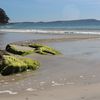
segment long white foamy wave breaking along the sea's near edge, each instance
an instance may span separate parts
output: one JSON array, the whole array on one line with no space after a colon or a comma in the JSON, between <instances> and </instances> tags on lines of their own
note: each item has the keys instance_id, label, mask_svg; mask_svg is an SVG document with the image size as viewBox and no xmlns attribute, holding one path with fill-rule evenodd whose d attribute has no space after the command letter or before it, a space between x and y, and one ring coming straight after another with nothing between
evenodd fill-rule
<instances>
[{"instance_id":1,"label":"long white foamy wave breaking along the sea's near edge","mask_svg":"<svg viewBox=\"0 0 100 100\"><path fill-rule=\"evenodd\" d=\"M44 34L100 34L100 31L42 30L42 29L0 29L0 32L44 33Z\"/></svg>"}]
</instances>

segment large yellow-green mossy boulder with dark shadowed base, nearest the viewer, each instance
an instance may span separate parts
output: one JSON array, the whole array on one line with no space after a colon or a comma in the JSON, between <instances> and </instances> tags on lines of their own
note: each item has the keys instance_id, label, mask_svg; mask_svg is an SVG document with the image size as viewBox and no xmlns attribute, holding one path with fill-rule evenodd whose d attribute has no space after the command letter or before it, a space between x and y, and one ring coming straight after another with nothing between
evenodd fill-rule
<instances>
[{"instance_id":1,"label":"large yellow-green mossy boulder with dark shadowed base, nearest the viewer","mask_svg":"<svg viewBox=\"0 0 100 100\"><path fill-rule=\"evenodd\" d=\"M20 73L27 70L36 70L40 64L29 58L16 58L11 55L3 55L0 62L0 73L4 76Z\"/></svg>"}]
</instances>

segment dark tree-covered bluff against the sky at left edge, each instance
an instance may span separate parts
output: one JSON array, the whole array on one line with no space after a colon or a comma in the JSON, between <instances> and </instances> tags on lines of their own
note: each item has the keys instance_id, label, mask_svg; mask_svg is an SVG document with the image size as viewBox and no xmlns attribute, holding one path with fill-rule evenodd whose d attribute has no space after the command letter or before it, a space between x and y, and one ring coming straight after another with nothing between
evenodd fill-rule
<instances>
[{"instance_id":1,"label":"dark tree-covered bluff against the sky at left edge","mask_svg":"<svg viewBox=\"0 0 100 100\"><path fill-rule=\"evenodd\" d=\"M6 15L5 11L0 8L0 23L8 23L9 17Z\"/></svg>"}]
</instances>

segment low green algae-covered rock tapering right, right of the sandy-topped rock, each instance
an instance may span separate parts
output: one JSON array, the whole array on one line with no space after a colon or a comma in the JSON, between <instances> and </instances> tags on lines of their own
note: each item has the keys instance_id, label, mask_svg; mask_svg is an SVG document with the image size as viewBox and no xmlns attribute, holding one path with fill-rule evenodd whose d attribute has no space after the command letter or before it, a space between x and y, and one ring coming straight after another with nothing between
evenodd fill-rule
<instances>
[{"instance_id":1,"label":"low green algae-covered rock tapering right, right of the sandy-topped rock","mask_svg":"<svg viewBox=\"0 0 100 100\"><path fill-rule=\"evenodd\" d=\"M55 50L54 48L51 48L49 46L42 45L39 43L33 43L33 44L30 44L29 46L35 48L35 52L42 54L42 55L47 55L47 54L59 55L59 54L61 54L59 51Z\"/></svg>"}]
</instances>

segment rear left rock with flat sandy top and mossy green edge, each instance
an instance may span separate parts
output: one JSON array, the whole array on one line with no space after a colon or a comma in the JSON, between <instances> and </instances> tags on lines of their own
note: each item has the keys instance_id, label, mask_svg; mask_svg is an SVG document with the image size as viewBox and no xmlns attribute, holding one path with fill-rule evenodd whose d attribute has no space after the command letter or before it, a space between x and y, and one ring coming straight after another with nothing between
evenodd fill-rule
<instances>
[{"instance_id":1,"label":"rear left rock with flat sandy top and mossy green edge","mask_svg":"<svg viewBox=\"0 0 100 100\"><path fill-rule=\"evenodd\" d=\"M21 48L21 49L20 49ZM27 47L24 47L24 46L18 46L18 45L11 45L11 44L8 44L6 46L6 50L10 53L13 53L13 54L18 54L18 55L22 55L22 56L25 56L27 54L31 54L34 52L34 49L26 49Z\"/></svg>"}]
</instances>

